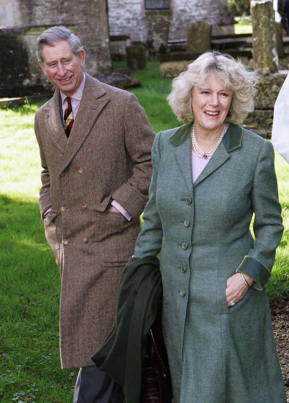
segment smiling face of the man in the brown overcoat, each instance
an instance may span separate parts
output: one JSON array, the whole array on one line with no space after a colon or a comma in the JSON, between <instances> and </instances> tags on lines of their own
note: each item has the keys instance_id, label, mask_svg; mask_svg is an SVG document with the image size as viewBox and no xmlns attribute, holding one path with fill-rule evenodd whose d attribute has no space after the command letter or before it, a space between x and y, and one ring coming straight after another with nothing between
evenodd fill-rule
<instances>
[{"instance_id":1,"label":"smiling face of the man in the brown overcoat","mask_svg":"<svg viewBox=\"0 0 289 403\"><path fill-rule=\"evenodd\" d=\"M42 57L43 64L38 63L50 83L71 97L83 81L85 51L76 56L68 41L59 41L55 46L43 46Z\"/></svg>"}]
</instances>

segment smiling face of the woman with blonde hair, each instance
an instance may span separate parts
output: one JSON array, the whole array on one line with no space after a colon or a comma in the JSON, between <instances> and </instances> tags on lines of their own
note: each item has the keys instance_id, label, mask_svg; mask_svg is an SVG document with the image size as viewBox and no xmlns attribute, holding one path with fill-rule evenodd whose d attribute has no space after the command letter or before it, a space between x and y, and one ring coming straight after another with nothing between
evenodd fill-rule
<instances>
[{"instance_id":1,"label":"smiling face of the woman with blonde hair","mask_svg":"<svg viewBox=\"0 0 289 403\"><path fill-rule=\"evenodd\" d=\"M202 87L194 87L192 109L197 130L211 133L223 129L231 101L232 93L225 91L213 75Z\"/></svg>"}]
</instances>

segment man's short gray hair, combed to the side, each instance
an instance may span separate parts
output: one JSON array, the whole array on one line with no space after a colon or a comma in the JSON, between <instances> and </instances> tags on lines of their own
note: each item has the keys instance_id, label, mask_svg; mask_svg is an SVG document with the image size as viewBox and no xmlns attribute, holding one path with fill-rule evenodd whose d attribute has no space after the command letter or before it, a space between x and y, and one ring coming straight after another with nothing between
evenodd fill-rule
<instances>
[{"instance_id":1,"label":"man's short gray hair, combed to the side","mask_svg":"<svg viewBox=\"0 0 289 403\"><path fill-rule=\"evenodd\" d=\"M78 38L78 36L74 35L74 33L72 33L67 27L64 27L64 25L55 25L54 27L46 29L37 38L37 60L43 64L43 46L55 46L59 41L68 41L72 52L76 54L76 56L78 56L83 50L81 40Z\"/></svg>"}]
</instances>

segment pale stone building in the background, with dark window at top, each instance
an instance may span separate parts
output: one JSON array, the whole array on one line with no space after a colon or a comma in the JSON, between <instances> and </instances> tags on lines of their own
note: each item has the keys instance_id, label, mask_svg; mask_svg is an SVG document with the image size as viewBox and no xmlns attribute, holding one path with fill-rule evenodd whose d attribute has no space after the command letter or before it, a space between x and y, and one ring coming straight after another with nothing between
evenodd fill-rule
<instances>
[{"instance_id":1,"label":"pale stone building in the background, with dark window at top","mask_svg":"<svg viewBox=\"0 0 289 403\"><path fill-rule=\"evenodd\" d=\"M186 40L188 25L205 21L213 35L233 33L227 0L107 0L109 34L133 42ZM157 49L158 50L158 49Z\"/></svg>"}]
</instances>

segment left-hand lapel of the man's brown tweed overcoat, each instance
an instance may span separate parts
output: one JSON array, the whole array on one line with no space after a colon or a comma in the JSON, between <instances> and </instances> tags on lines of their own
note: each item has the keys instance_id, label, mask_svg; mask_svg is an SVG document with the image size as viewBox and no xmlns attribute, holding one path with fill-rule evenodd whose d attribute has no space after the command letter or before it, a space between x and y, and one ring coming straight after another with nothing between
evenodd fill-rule
<instances>
[{"instance_id":1,"label":"left-hand lapel of the man's brown tweed overcoat","mask_svg":"<svg viewBox=\"0 0 289 403\"><path fill-rule=\"evenodd\" d=\"M61 121L59 105L59 90L54 91L50 106L45 108L45 123L49 137L52 139L58 150L65 154L67 137Z\"/></svg>"}]
</instances>

